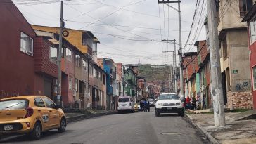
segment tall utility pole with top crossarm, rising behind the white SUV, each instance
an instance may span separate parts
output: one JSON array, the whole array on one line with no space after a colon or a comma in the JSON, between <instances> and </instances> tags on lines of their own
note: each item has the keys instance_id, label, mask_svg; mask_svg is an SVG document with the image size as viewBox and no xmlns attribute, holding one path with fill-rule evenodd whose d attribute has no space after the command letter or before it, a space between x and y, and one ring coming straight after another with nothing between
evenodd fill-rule
<instances>
[{"instance_id":1,"label":"tall utility pole with top crossarm, rising behind the white SUV","mask_svg":"<svg viewBox=\"0 0 256 144\"><path fill-rule=\"evenodd\" d=\"M180 87L181 91L179 95L181 98L184 98L184 90L183 90L183 65L182 65L182 44L181 44L181 1L171 1L171 0L158 0L159 4L166 4L167 6L173 8L179 14L179 65L180 65ZM178 9L170 6L169 3L178 3Z\"/></svg>"}]
</instances>

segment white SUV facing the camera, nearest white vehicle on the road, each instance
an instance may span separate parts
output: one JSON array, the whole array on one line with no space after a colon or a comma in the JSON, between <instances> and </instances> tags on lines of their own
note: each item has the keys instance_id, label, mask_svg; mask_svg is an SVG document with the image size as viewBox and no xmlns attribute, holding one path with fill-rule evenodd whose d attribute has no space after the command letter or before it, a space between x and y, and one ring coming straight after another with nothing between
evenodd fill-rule
<instances>
[{"instance_id":1,"label":"white SUV facing the camera, nearest white vehicle on the road","mask_svg":"<svg viewBox=\"0 0 256 144\"><path fill-rule=\"evenodd\" d=\"M176 93L160 94L158 101L155 103L155 116L159 117L161 113L177 113L184 117L184 107Z\"/></svg>"}]
</instances>

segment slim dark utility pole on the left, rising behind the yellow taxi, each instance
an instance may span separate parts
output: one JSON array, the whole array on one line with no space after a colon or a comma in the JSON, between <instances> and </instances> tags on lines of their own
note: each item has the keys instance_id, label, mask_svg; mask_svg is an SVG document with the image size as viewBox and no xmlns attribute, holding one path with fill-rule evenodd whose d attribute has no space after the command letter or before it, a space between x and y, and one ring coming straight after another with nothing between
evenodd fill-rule
<instances>
[{"instance_id":1,"label":"slim dark utility pole on the left, rising behind the yellow taxi","mask_svg":"<svg viewBox=\"0 0 256 144\"><path fill-rule=\"evenodd\" d=\"M63 1L60 5L60 34L59 34L59 44L58 44L58 55L57 55L57 65L58 65L58 89L57 89L57 106L61 106L61 49L62 49L62 33L63 33Z\"/></svg>"}]
</instances>

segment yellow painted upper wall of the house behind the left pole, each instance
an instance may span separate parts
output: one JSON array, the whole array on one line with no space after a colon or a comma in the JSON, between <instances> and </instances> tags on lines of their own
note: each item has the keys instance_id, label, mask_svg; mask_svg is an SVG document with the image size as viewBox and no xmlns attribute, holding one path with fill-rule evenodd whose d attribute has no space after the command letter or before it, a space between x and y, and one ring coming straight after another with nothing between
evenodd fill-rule
<instances>
[{"instance_id":1,"label":"yellow painted upper wall of the house behind the left pole","mask_svg":"<svg viewBox=\"0 0 256 144\"><path fill-rule=\"evenodd\" d=\"M34 30L41 30L45 32L53 32L59 34L60 28L58 27L46 27L46 26L39 26L39 25L31 25ZM66 40L70 42L73 46L76 46L79 51L82 53L88 53L88 47L82 45L82 30L70 30L65 29L69 32L68 37L64 37Z\"/></svg>"}]
</instances>

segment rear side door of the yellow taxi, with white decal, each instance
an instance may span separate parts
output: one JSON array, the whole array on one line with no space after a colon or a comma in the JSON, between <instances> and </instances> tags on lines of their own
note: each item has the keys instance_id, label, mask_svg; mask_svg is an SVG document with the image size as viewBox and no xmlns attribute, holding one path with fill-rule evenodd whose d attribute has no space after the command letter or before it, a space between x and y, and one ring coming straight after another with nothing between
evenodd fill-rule
<instances>
[{"instance_id":1,"label":"rear side door of the yellow taxi, with white decal","mask_svg":"<svg viewBox=\"0 0 256 144\"><path fill-rule=\"evenodd\" d=\"M51 122L49 121L49 110L46 108L46 105L44 104L44 101L40 98L34 98L34 110L36 110L39 114L39 117L41 118L41 121L43 122L44 129L50 129L51 128Z\"/></svg>"}]
</instances>

